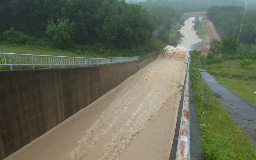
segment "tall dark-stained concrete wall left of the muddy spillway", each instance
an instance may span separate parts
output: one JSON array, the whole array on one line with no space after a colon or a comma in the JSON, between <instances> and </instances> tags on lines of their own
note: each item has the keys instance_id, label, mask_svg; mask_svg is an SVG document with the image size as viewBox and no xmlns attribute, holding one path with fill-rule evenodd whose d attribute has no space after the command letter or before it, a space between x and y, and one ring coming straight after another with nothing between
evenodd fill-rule
<instances>
[{"instance_id":1,"label":"tall dark-stained concrete wall left of the muddy spillway","mask_svg":"<svg viewBox=\"0 0 256 160\"><path fill-rule=\"evenodd\" d=\"M157 55L101 67L0 72L0 159L112 90Z\"/></svg>"}]
</instances>

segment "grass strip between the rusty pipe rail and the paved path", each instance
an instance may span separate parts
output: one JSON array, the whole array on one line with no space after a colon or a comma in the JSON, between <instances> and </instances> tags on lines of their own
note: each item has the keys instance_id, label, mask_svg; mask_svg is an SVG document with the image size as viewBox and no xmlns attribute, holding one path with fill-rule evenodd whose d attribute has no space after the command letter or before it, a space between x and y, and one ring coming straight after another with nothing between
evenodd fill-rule
<instances>
[{"instance_id":1,"label":"grass strip between the rusty pipe rail and the paved path","mask_svg":"<svg viewBox=\"0 0 256 160\"><path fill-rule=\"evenodd\" d=\"M232 120L227 111L205 85L197 69L190 69L194 102L202 131L206 160L251 160L256 157L249 136ZM239 156L239 157L238 157Z\"/></svg>"}]
</instances>

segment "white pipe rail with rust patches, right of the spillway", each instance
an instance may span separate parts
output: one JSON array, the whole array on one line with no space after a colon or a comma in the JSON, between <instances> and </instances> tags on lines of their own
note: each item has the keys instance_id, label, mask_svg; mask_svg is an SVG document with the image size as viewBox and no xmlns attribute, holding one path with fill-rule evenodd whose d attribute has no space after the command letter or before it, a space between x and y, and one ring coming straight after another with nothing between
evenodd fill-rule
<instances>
[{"instance_id":1,"label":"white pipe rail with rust patches, right of the spillway","mask_svg":"<svg viewBox=\"0 0 256 160\"><path fill-rule=\"evenodd\" d=\"M187 65L185 93L183 99L176 160L190 160L189 63Z\"/></svg>"}]
</instances>

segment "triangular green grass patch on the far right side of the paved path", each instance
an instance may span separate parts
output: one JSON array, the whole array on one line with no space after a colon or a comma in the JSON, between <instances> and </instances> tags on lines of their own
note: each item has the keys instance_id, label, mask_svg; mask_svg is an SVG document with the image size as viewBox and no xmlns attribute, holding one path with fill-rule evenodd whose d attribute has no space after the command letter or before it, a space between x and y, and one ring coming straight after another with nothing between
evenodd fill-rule
<instances>
[{"instance_id":1,"label":"triangular green grass patch on the far right side of the paved path","mask_svg":"<svg viewBox=\"0 0 256 160\"><path fill-rule=\"evenodd\" d=\"M224 86L244 97L256 106L256 82L243 81L239 79L228 79L220 76L215 78Z\"/></svg>"}]
</instances>

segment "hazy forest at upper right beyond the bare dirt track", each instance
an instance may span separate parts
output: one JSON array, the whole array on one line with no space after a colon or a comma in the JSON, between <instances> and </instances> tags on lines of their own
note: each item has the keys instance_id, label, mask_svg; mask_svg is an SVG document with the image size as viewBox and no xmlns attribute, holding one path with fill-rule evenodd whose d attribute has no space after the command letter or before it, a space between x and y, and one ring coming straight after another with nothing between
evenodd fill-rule
<instances>
[{"instance_id":1,"label":"hazy forest at upper right beyond the bare dirt track","mask_svg":"<svg viewBox=\"0 0 256 160\"><path fill-rule=\"evenodd\" d=\"M241 42L255 45L256 10L246 10L244 14L241 6L213 6L207 10L207 17L213 22L220 37L239 37Z\"/></svg>"}]
</instances>

